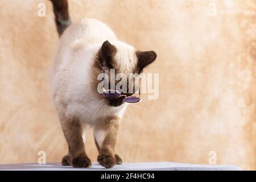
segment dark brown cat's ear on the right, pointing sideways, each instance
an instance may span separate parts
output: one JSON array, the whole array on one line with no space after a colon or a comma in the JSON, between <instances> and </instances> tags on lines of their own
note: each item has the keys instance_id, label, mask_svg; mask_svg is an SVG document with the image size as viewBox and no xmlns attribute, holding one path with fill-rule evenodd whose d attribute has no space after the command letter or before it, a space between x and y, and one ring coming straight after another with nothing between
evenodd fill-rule
<instances>
[{"instance_id":1,"label":"dark brown cat's ear on the right, pointing sideways","mask_svg":"<svg viewBox=\"0 0 256 182\"><path fill-rule=\"evenodd\" d=\"M136 55L138 57L137 67L139 72L141 72L143 68L151 64L156 59L156 53L154 51L137 51Z\"/></svg>"}]
</instances>

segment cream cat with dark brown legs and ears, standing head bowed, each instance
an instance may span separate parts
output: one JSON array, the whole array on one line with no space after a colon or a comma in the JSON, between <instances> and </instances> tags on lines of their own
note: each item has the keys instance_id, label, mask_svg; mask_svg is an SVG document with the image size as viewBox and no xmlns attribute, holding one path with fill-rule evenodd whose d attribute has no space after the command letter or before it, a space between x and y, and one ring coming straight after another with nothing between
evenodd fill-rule
<instances>
[{"instance_id":1,"label":"cream cat with dark brown legs and ears, standing head bowed","mask_svg":"<svg viewBox=\"0 0 256 182\"><path fill-rule=\"evenodd\" d=\"M123 102L123 97L110 99L99 93L101 80L97 76L102 67L106 75L110 69L115 74L123 73L125 78L129 73L141 74L155 59L154 51L137 51L120 42L105 23L96 19L84 18L64 31L50 74L53 102L68 143L63 166L92 165L85 152L86 126L93 129L98 163L105 168L122 164L115 154L115 143L119 123L129 104Z\"/></svg>"}]
</instances>

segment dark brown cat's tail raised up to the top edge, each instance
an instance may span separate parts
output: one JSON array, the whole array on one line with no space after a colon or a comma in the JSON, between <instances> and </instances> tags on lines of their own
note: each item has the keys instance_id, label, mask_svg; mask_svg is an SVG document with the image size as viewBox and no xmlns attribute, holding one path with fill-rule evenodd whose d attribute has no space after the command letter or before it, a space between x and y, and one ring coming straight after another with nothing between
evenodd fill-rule
<instances>
[{"instance_id":1,"label":"dark brown cat's tail raised up to the top edge","mask_svg":"<svg viewBox=\"0 0 256 182\"><path fill-rule=\"evenodd\" d=\"M53 5L53 12L55 14L55 23L59 36L63 34L64 30L71 24L68 12L68 0L50 0Z\"/></svg>"}]
</instances>

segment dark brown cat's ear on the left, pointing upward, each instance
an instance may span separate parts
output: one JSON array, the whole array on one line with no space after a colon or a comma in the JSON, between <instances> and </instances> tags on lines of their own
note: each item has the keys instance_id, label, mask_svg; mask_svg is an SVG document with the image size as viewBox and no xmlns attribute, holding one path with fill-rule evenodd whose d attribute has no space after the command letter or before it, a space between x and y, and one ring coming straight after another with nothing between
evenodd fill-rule
<instances>
[{"instance_id":1,"label":"dark brown cat's ear on the left, pointing upward","mask_svg":"<svg viewBox=\"0 0 256 182\"><path fill-rule=\"evenodd\" d=\"M106 65L108 65L109 68L113 68L112 62L113 57L117 52L117 48L115 48L115 46L113 46L108 42L108 40L106 40L101 46L101 52L102 56L104 57Z\"/></svg>"}]
</instances>

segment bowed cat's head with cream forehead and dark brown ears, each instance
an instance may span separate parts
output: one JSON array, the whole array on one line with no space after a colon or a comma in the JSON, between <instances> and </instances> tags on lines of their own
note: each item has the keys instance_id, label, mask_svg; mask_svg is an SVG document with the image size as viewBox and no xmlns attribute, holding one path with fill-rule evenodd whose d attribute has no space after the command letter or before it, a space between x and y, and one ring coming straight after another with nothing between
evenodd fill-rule
<instances>
[{"instance_id":1,"label":"bowed cat's head with cream forehead and dark brown ears","mask_svg":"<svg viewBox=\"0 0 256 182\"><path fill-rule=\"evenodd\" d=\"M111 44L108 41L102 44L98 55L98 62L101 65L104 65L105 73L109 75L109 78L110 69L114 69L115 76L122 75L122 84L119 83L121 85L120 88L122 89L118 91L121 95L125 95L126 97L132 96L136 91L135 88L139 88L139 82L129 82L129 77L131 76L129 73L133 73L134 78L138 77L139 74L142 73L143 69L147 65L151 64L155 59L156 53L154 51L137 51L125 43L113 42ZM120 80L114 80L114 82L115 84L118 84ZM133 93L129 92L129 89L133 90ZM125 96L105 99L108 101L108 105L117 107L124 103L123 99Z\"/></svg>"}]
</instances>

